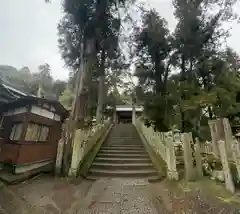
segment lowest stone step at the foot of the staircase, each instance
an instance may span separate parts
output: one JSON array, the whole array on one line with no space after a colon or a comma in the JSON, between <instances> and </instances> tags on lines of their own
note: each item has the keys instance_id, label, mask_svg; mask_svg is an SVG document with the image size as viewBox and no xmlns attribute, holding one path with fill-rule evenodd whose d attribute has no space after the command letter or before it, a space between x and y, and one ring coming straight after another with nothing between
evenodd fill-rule
<instances>
[{"instance_id":1,"label":"lowest stone step at the foot of the staircase","mask_svg":"<svg viewBox=\"0 0 240 214\"><path fill-rule=\"evenodd\" d=\"M103 176L103 177L133 177L133 178L143 178L157 176L155 169L144 169L144 170L107 170L107 169L91 169L89 170L90 176Z\"/></svg>"}]
</instances>

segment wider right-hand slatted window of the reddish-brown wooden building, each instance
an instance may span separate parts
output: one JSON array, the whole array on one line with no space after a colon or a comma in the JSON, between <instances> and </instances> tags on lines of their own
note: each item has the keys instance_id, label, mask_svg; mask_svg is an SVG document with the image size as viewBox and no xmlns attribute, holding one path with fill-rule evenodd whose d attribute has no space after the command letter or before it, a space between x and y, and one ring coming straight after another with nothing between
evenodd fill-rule
<instances>
[{"instance_id":1,"label":"wider right-hand slatted window of the reddish-brown wooden building","mask_svg":"<svg viewBox=\"0 0 240 214\"><path fill-rule=\"evenodd\" d=\"M45 142L47 141L48 133L49 133L48 126L44 126L36 123L29 123L25 140Z\"/></svg>"}]
</instances>

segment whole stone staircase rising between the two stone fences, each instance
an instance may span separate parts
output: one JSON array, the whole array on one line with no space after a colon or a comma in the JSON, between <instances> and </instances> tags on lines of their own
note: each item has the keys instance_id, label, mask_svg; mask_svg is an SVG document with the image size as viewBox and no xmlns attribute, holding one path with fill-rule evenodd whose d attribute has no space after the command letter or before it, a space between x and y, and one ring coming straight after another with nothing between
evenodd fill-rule
<instances>
[{"instance_id":1,"label":"whole stone staircase rising between the two stone fences","mask_svg":"<svg viewBox=\"0 0 240 214\"><path fill-rule=\"evenodd\" d=\"M158 174L132 124L117 124L102 145L88 179L147 178L158 180Z\"/></svg>"}]
</instances>

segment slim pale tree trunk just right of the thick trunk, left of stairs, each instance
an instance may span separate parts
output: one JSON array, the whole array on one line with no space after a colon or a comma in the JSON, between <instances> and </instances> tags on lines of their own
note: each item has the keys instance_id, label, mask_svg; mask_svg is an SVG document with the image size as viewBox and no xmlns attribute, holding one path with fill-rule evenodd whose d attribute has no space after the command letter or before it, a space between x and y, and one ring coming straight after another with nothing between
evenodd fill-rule
<instances>
[{"instance_id":1,"label":"slim pale tree trunk just right of the thick trunk, left of stairs","mask_svg":"<svg viewBox=\"0 0 240 214\"><path fill-rule=\"evenodd\" d=\"M98 106L96 112L96 122L97 124L102 123L103 120L103 107L104 107L104 94L105 94L105 51L101 54L101 65L100 65L100 77L99 77L99 87L98 87Z\"/></svg>"}]
</instances>

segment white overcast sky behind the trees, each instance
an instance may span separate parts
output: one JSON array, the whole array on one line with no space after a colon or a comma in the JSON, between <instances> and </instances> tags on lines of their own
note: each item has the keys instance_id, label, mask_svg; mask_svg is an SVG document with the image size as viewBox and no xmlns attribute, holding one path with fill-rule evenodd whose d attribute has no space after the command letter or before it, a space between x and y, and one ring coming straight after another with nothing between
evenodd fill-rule
<instances>
[{"instance_id":1,"label":"white overcast sky behind the trees","mask_svg":"<svg viewBox=\"0 0 240 214\"><path fill-rule=\"evenodd\" d=\"M147 0L174 28L171 0ZM240 7L238 8L240 9ZM61 0L0 0L0 65L28 66L32 72L48 63L55 79L66 79L57 43L57 24L62 17ZM240 25L231 24L228 45L240 54Z\"/></svg>"}]
</instances>

